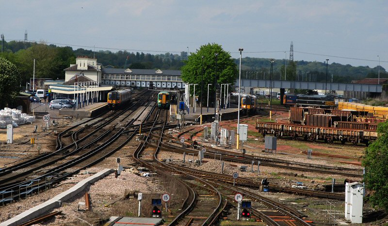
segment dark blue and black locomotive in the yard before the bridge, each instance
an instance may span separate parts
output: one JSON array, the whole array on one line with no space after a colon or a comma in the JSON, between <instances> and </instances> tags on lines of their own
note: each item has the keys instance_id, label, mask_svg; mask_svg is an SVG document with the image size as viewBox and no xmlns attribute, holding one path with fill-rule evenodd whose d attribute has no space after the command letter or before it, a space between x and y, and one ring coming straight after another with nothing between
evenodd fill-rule
<instances>
[{"instance_id":1,"label":"dark blue and black locomotive in the yard before the bridge","mask_svg":"<svg viewBox=\"0 0 388 226\"><path fill-rule=\"evenodd\" d=\"M286 94L283 98L285 107L300 106L300 107L320 107L332 108L336 104L334 97L330 95L305 95L305 94Z\"/></svg>"}]
</instances>

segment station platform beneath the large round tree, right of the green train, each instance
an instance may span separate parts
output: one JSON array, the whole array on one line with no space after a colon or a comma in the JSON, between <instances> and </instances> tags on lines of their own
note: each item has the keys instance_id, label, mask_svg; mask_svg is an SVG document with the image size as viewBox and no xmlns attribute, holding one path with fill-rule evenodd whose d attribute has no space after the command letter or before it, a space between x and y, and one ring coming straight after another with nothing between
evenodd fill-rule
<instances>
[{"instance_id":1,"label":"station platform beneath the large round tree, right of the green train","mask_svg":"<svg viewBox=\"0 0 388 226\"><path fill-rule=\"evenodd\" d=\"M171 114L178 113L178 106L177 105L171 105ZM231 118L237 118L237 108L227 108L227 109L220 109L221 114L221 120L229 120ZM196 111L194 112L194 108L190 107L189 112L186 111L185 114L185 120L186 121L197 121L199 122L199 117L201 115L201 108L196 108ZM212 122L214 121L214 108L202 108L202 122Z\"/></svg>"}]
</instances>

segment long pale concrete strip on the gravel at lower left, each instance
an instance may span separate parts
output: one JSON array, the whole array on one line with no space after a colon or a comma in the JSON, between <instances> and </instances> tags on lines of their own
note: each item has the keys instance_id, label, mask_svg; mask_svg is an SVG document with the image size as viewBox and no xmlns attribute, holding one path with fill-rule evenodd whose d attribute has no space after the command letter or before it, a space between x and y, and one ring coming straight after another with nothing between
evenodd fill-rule
<instances>
[{"instance_id":1,"label":"long pale concrete strip on the gravel at lower left","mask_svg":"<svg viewBox=\"0 0 388 226\"><path fill-rule=\"evenodd\" d=\"M32 207L31 209L26 210L26 211L16 215L15 217L0 223L0 226L17 226L17 225L23 224L27 221L30 221L30 220L38 217L41 214L44 214L45 212L47 212L51 209L58 208L61 206L62 202L66 201L67 199L80 193L89 184L94 183L97 180L104 178L105 176L107 176L113 172L114 172L113 169L103 169L100 172L98 172L97 174L81 180L72 188L68 189L67 191L65 191L61 194L56 195L55 197L49 199L48 201L46 201L38 206Z\"/></svg>"}]
</instances>

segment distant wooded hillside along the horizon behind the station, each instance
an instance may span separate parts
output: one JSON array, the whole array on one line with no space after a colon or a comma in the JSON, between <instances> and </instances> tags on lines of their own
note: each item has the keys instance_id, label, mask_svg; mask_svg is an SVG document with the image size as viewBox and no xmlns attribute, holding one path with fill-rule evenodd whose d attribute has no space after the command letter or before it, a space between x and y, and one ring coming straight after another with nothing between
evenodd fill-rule
<instances>
[{"instance_id":1,"label":"distant wooded hillside along the horizon behind the station","mask_svg":"<svg viewBox=\"0 0 388 226\"><path fill-rule=\"evenodd\" d=\"M40 59L37 62L36 76L42 78L64 78L63 69L69 64L75 64L75 57L88 56L97 58L97 62L104 66L112 65L116 68L138 68L138 69L172 69L179 70L184 64L183 60L187 60L187 52L182 51L180 54L164 53L164 54L149 54L139 52L100 50L93 52L92 50L78 48L73 50L71 47L56 47L49 45L43 48L44 44L25 43L20 41L5 42L4 53L0 53L0 57L4 57L11 62L14 62L22 73L24 80L29 81L32 71L32 60L27 58ZM40 48L37 48L40 47ZM26 48L26 49L25 49ZM49 53L49 54L48 54ZM46 65L42 65L46 62ZM235 59L236 65L239 65L240 59ZM296 74L295 80L306 81L325 81L326 79L326 64L324 62L307 62L295 61ZM26 65L27 64L27 65ZM287 73L289 73L290 62L287 61ZM39 67L41 66L41 67ZM242 58L242 78L248 77L252 79L265 76L269 79L271 63L266 58ZM335 82L351 82L362 78L377 78L378 68L370 68L368 66L352 66L332 63L328 65L328 80ZM274 62L273 79L284 79L284 60L276 60ZM238 77L238 75L236 75ZM287 77L288 79L290 77ZM380 78L388 78L385 68L380 67Z\"/></svg>"}]
</instances>

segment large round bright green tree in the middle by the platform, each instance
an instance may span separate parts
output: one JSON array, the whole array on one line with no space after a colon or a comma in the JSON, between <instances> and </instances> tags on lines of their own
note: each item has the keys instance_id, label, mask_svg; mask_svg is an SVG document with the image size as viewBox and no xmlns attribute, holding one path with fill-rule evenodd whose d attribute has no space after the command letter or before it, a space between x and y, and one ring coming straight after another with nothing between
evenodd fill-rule
<instances>
[{"instance_id":1,"label":"large round bright green tree in the middle by the platform","mask_svg":"<svg viewBox=\"0 0 388 226\"><path fill-rule=\"evenodd\" d=\"M217 70L216 57L217 56ZM203 56L203 58L202 58ZM203 91L204 97L207 96L208 84L214 84L214 77L217 76L217 84L233 83L237 75L237 65L231 58L229 52L226 52L218 44L207 44L201 46L196 52L189 55L188 60L183 60L181 67L181 78L184 82L190 84L198 84L195 88L195 95L201 95L201 76L203 68ZM214 95L214 85L210 86L211 92ZM218 88L219 89L219 88ZM191 92L194 90L190 89Z\"/></svg>"}]
</instances>

